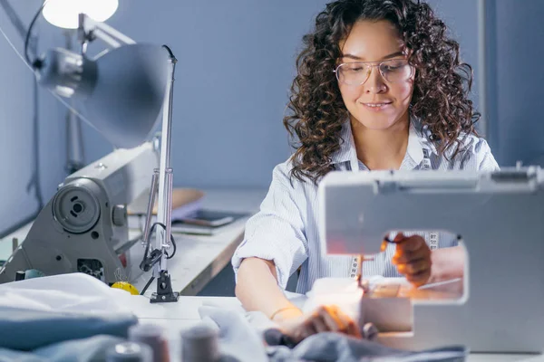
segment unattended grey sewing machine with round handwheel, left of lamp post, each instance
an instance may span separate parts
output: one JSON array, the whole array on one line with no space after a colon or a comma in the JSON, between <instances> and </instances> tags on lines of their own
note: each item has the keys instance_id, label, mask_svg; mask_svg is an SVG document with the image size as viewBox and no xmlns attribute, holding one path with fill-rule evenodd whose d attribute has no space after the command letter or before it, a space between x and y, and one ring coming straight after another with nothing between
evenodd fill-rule
<instances>
[{"instance_id":1,"label":"unattended grey sewing machine with round handwheel, left of lamp post","mask_svg":"<svg viewBox=\"0 0 544 362\"><path fill-rule=\"evenodd\" d=\"M152 142L118 148L66 177L0 270L0 283L17 271L45 275L84 272L112 284L141 274L144 248L129 240L127 205L149 192L159 162Z\"/></svg>"}]
</instances>

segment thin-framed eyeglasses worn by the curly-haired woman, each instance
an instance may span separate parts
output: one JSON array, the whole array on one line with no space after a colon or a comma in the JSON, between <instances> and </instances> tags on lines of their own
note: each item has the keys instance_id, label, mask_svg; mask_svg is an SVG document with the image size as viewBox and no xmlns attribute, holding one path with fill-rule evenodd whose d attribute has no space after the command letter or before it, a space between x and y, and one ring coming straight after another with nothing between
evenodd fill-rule
<instances>
[{"instance_id":1,"label":"thin-framed eyeglasses worn by the curly-haired woman","mask_svg":"<svg viewBox=\"0 0 544 362\"><path fill-rule=\"evenodd\" d=\"M413 66L406 59L391 59L384 62L343 62L334 72L336 79L341 83L362 85L368 81L374 67L377 67L384 80L390 83L407 81L413 75Z\"/></svg>"}]
</instances>

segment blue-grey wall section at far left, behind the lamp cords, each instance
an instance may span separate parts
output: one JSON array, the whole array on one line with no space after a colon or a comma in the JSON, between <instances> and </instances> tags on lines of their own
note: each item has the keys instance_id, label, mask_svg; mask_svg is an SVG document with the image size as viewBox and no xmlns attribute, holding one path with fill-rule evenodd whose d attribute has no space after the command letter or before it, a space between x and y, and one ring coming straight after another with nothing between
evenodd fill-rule
<instances>
[{"instance_id":1,"label":"blue-grey wall section at far left, behind the lamp cords","mask_svg":"<svg viewBox=\"0 0 544 362\"><path fill-rule=\"evenodd\" d=\"M40 0L11 0L10 4L29 24ZM23 40L0 8L0 25L15 44L23 51ZM56 29L42 22L39 49L58 45ZM34 163L34 75L24 65L0 34L0 235L19 224L38 210L35 189L27 185L39 171L40 191L44 203L53 195L56 186L63 180L64 124L60 104L45 90L39 90L39 146L38 167Z\"/></svg>"}]
</instances>

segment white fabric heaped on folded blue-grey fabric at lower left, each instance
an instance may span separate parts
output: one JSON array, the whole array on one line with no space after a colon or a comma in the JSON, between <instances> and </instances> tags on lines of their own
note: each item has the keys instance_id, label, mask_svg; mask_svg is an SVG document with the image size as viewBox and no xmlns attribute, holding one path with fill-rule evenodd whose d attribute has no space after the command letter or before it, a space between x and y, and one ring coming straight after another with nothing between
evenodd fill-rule
<instances>
[{"instance_id":1,"label":"white fabric heaped on folded blue-grey fabric at lower left","mask_svg":"<svg viewBox=\"0 0 544 362\"><path fill-rule=\"evenodd\" d=\"M81 273L0 285L0 348L30 351L102 334L126 338L138 322L124 307L130 297Z\"/></svg>"}]
</instances>

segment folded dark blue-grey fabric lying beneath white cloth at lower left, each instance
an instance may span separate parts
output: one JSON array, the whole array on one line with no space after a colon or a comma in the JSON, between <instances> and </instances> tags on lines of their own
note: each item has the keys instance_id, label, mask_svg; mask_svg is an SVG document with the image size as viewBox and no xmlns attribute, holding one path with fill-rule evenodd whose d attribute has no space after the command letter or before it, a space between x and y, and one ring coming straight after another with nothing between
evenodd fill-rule
<instances>
[{"instance_id":1,"label":"folded dark blue-grey fabric lying beneath white cloth at lower left","mask_svg":"<svg viewBox=\"0 0 544 362\"><path fill-rule=\"evenodd\" d=\"M0 308L0 348L34 350L104 334L126 338L138 319L129 313L83 314Z\"/></svg>"}]
</instances>

